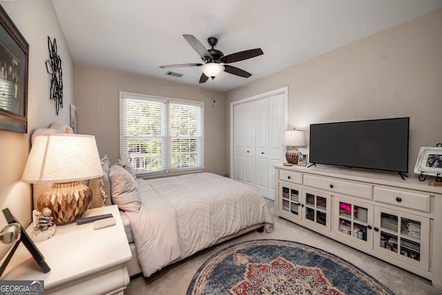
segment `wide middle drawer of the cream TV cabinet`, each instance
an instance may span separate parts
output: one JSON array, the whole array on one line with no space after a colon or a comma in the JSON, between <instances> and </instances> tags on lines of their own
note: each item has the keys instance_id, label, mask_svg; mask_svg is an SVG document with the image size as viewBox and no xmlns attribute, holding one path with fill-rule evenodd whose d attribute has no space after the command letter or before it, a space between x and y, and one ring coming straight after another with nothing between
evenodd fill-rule
<instances>
[{"instance_id":1,"label":"wide middle drawer of the cream TV cabinet","mask_svg":"<svg viewBox=\"0 0 442 295\"><path fill-rule=\"evenodd\" d=\"M372 185L339 181L337 179L311 175L304 175L304 185L320 188L321 190L338 192L340 194L348 194L349 196L358 196L363 199L372 199Z\"/></svg>"}]
</instances>

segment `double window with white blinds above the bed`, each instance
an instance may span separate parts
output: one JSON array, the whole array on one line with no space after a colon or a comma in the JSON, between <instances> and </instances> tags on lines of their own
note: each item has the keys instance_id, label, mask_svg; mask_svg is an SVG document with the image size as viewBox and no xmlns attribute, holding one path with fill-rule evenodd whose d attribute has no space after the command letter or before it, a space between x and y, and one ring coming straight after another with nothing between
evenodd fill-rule
<instances>
[{"instance_id":1,"label":"double window with white blinds above the bed","mask_svg":"<svg viewBox=\"0 0 442 295\"><path fill-rule=\"evenodd\" d=\"M137 173L203 168L204 104L120 94L120 146Z\"/></svg>"}]
</instances>

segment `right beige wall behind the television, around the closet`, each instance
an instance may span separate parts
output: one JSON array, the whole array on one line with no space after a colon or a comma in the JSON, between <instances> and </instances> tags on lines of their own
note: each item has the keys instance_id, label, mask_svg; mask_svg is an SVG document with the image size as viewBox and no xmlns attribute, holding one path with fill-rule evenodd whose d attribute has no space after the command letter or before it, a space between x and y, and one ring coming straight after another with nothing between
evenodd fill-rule
<instances>
[{"instance_id":1,"label":"right beige wall behind the television, around the closet","mask_svg":"<svg viewBox=\"0 0 442 295\"><path fill-rule=\"evenodd\" d=\"M288 86L288 128L302 130L311 123L410 116L412 175L419 148L442 141L441 52L439 9L227 92L226 103Z\"/></svg>"}]
</instances>

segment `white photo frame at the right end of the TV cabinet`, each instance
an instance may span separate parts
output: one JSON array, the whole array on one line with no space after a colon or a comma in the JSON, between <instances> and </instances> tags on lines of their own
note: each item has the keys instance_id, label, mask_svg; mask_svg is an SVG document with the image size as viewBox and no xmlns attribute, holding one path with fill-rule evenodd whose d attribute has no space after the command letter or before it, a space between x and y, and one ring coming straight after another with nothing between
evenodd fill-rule
<instances>
[{"instance_id":1,"label":"white photo frame at the right end of the TV cabinet","mask_svg":"<svg viewBox=\"0 0 442 295\"><path fill-rule=\"evenodd\" d=\"M414 173L442 176L442 148L441 147L421 147L417 157Z\"/></svg>"}]
</instances>

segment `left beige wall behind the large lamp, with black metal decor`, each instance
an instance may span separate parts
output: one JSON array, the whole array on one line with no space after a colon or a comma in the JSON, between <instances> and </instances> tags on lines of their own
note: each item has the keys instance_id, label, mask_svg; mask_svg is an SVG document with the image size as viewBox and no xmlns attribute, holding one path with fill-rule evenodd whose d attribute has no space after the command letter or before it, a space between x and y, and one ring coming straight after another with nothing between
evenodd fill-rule
<instances>
[{"instance_id":1,"label":"left beige wall behind the large lamp, with black metal decor","mask_svg":"<svg viewBox=\"0 0 442 295\"><path fill-rule=\"evenodd\" d=\"M28 134L0 130L0 208L9 207L23 225L31 219L30 185L20 181L30 148L30 134L51 123L69 123L69 105L73 103L73 60L50 0L1 1L21 34L29 43ZM49 57L48 36L57 39L62 60L64 108L55 114L49 99L50 76L45 61ZM0 213L0 229L6 224ZM6 246L0 243L0 257Z\"/></svg>"}]
</instances>

